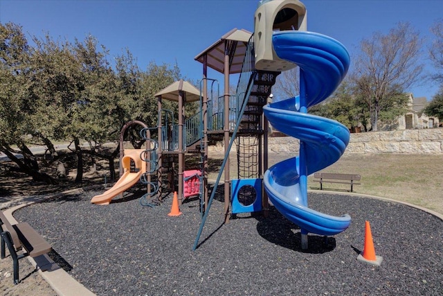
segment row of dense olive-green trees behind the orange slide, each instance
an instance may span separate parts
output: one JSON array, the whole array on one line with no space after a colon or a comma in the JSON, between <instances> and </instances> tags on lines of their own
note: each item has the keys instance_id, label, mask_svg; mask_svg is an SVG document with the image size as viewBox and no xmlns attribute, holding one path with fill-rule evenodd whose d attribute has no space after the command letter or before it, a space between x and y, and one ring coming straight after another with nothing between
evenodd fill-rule
<instances>
[{"instance_id":1,"label":"row of dense olive-green trees behind the orange slide","mask_svg":"<svg viewBox=\"0 0 443 296\"><path fill-rule=\"evenodd\" d=\"M109 153L101 149L102 144L118 141L127 121L156 126L154 94L180 78L179 68L152 62L147 71L140 71L127 51L116 58L113 69L107 49L91 35L71 43L47 34L42 39L33 37L33 42L35 46L28 45L20 26L0 24L0 151L34 180L54 182L39 173L30 143L47 146L53 156L49 164L56 164L57 169L64 157L74 155L76 182L82 181L84 167L94 169L96 157L109 161L114 179L118 148ZM177 104L164 101L163 107L177 114ZM134 130L128 129L128 134L139 138ZM69 145L71 153L57 153L55 140L73 144ZM89 149L80 145L84 141ZM137 147L141 144L136 143Z\"/></svg>"}]
</instances>

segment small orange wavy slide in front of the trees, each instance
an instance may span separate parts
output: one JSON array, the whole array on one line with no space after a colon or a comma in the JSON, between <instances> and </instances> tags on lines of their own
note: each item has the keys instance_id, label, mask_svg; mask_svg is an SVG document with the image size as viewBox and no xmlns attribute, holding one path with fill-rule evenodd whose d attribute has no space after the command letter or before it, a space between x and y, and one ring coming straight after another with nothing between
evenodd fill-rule
<instances>
[{"instance_id":1,"label":"small orange wavy slide in front of the trees","mask_svg":"<svg viewBox=\"0 0 443 296\"><path fill-rule=\"evenodd\" d=\"M144 149L125 149L125 156L122 158L123 175L111 187L100 195L96 195L91 199L93 204L109 204L113 198L120 193L125 192L140 180L140 176L146 171L146 162L143 162L140 155ZM136 172L131 172L131 160L134 162Z\"/></svg>"}]
</instances>

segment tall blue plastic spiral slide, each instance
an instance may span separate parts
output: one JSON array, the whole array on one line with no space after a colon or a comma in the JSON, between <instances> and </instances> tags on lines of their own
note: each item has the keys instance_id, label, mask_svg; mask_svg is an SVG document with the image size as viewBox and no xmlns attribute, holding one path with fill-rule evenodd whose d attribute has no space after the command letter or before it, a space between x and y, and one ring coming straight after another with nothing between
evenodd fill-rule
<instances>
[{"instance_id":1,"label":"tall blue plastic spiral slide","mask_svg":"<svg viewBox=\"0 0 443 296\"><path fill-rule=\"evenodd\" d=\"M301 234L331 236L351 223L308 207L307 176L336 162L345 152L349 130L331 119L307 114L307 107L324 101L340 85L350 64L343 44L331 37L302 31L273 33L279 58L300 67L300 96L264 107L273 128L300 139L298 157L271 166L264 173L264 188L280 213L298 225Z\"/></svg>"}]
</instances>

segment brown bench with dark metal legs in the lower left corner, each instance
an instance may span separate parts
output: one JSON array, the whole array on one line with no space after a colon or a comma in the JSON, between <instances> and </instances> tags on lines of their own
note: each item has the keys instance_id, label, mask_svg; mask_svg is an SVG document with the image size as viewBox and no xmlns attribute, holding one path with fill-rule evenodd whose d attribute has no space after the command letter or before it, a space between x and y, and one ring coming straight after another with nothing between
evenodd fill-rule
<instances>
[{"instance_id":1,"label":"brown bench with dark metal legs in the lower left corner","mask_svg":"<svg viewBox=\"0 0 443 296\"><path fill-rule=\"evenodd\" d=\"M36 257L52 250L51 245L28 223L11 225L5 214L0 211L1 259L6 257L5 244L8 246L14 264L14 284L19 284L19 259L26 256ZM19 254L17 254L19 252Z\"/></svg>"}]
</instances>

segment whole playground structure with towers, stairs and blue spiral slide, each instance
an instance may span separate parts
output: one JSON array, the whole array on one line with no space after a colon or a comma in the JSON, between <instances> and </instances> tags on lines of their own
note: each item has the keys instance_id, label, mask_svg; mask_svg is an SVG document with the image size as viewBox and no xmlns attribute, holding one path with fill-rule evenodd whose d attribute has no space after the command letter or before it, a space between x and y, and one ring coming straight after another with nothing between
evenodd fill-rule
<instances>
[{"instance_id":1,"label":"whole playground structure with towers, stairs and blue spiral slide","mask_svg":"<svg viewBox=\"0 0 443 296\"><path fill-rule=\"evenodd\" d=\"M324 101L338 87L347 73L349 55L336 40L307 32L307 11L300 1L260 1L254 20L254 34L235 28L195 57L203 64L200 89L180 80L157 93L158 125L142 132L147 148L139 158L146 165L138 166L145 171L138 173L147 184L147 195L161 200L164 173L168 172L173 186L171 168L178 164L180 204L191 195L199 197L203 218L194 250L215 197L215 190L208 196L208 145L213 141L224 142L225 157L215 186L224 171L225 222L230 214L263 211L266 215L271 200L278 211L300 226L302 248L307 248L309 232L329 236L350 225L350 216L323 214L310 209L307 202L307 175L336 162L350 138L344 125L309 115L307 108ZM297 66L300 95L266 105L277 76ZM208 68L224 75L221 96L219 82L208 78ZM239 75L235 94L229 90L231 74ZM164 99L179 104L177 123L162 110ZM195 101L200 103L199 112L185 119L186 103ZM276 130L300 139L299 155L271 168L268 121ZM151 135L154 130L156 138ZM238 178L230 180L229 155L234 143ZM189 154L199 155L200 168L185 170Z\"/></svg>"}]
</instances>

